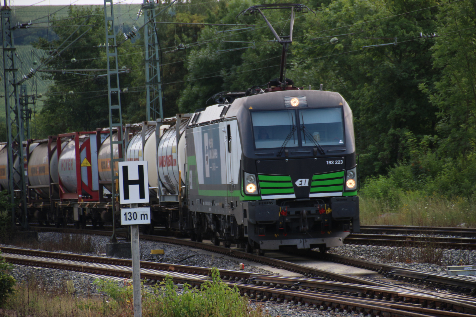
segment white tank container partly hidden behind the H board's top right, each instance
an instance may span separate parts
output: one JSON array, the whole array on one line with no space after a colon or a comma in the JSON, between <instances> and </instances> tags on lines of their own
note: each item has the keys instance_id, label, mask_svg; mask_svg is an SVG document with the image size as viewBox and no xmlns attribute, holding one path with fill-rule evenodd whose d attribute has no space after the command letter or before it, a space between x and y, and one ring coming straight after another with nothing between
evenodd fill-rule
<instances>
[{"instance_id":1,"label":"white tank container partly hidden behind the H board's top right","mask_svg":"<svg viewBox=\"0 0 476 317\"><path fill-rule=\"evenodd\" d=\"M157 165L155 152L155 125L149 125L145 132L145 145L142 150L142 131L130 139L126 149L126 161L147 161L149 187L157 187ZM156 192L154 193L156 194Z\"/></svg>"}]
</instances>

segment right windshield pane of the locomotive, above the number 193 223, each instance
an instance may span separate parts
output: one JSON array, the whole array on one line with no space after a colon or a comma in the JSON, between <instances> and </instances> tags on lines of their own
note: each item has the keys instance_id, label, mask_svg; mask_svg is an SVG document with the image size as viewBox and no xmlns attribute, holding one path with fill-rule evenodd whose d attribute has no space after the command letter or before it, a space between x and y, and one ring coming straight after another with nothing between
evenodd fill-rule
<instances>
[{"instance_id":1,"label":"right windshield pane of the locomotive, above the number 193 223","mask_svg":"<svg viewBox=\"0 0 476 317\"><path fill-rule=\"evenodd\" d=\"M319 108L299 110L303 146L314 145L310 136L320 145L344 144L342 108ZM304 126L304 130L302 127Z\"/></svg>"}]
</instances>

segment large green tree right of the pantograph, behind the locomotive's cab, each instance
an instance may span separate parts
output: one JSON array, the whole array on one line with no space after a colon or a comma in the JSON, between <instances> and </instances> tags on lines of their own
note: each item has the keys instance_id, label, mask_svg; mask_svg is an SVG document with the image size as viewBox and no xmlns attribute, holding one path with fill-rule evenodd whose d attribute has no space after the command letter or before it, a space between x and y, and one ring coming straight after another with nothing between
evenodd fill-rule
<instances>
[{"instance_id":1,"label":"large green tree right of the pantograph, behind the locomotive's cab","mask_svg":"<svg viewBox=\"0 0 476 317\"><path fill-rule=\"evenodd\" d=\"M386 173L408 158L406 135L434 134L436 107L418 85L438 76L433 68L433 40L420 32L436 31L435 5L418 1L334 1L307 19L307 36L293 45L290 72L301 85L343 95L354 114L357 151L364 176ZM394 16L392 18L387 18ZM374 21L375 20L375 21ZM340 35L343 34L343 35ZM337 36L338 44L329 39ZM362 49L363 46L392 43Z\"/></svg>"}]
</instances>

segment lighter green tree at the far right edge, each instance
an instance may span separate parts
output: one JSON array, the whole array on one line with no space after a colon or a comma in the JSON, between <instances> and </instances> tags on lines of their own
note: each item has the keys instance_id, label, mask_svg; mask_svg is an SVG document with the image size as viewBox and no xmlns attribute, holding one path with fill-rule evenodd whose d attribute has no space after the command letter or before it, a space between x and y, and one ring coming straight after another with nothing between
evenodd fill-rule
<instances>
[{"instance_id":1,"label":"lighter green tree at the far right edge","mask_svg":"<svg viewBox=\"0 0 476 317\"><path fill-rule=\"evenodd\" d=\"M438 109L440 154L446 157L466 157L476 149L475 10L471 1L441 7L433 61L442 76L421 85Z\"/></svg>"}]
</instances>

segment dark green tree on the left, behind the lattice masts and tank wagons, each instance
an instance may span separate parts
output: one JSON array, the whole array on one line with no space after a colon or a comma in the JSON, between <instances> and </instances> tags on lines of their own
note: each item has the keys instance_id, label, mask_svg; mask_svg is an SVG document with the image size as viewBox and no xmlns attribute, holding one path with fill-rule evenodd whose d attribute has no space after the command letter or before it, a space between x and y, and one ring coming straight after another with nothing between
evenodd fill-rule
<instances>
[{"instance_id":1,"label":"dark green tree on the left, behind the lattice masts and tank wagons","mask_svg":"<svg viewBox=\"0 0 476 317\"><path fill-rule=\"evenodd\" d=\"M70 48L53 59L49 69L104 69L106 68L104 16L102 10L93 7L70 6L68 17L52 21L53 26L60 27L57 31L58 39L47 41L40 38L35 46L42 48L46 53L55 50L63 41L69 44L87 29L88 33L79 38ZM81 25L76 30L76 26ZM74 33L73 33L74 32ZM72 36L67 39L70 35ZM119 33L120 34L120 33ZM121 38L118 36L118 41ZM128 93L121 93L123 120L138 122L145 119L145 99L143 78L144 66L143 50L139 41L137 44L126 42L118 49L119 68L130 69L119 75L121 88L128 88ZM46 54L48 55L48 54ZM111 62L112 58L111 58ZM45 96L45 106L37 117L37 124L43 136L66 133L71 131L91 131L96 128L109 126L108 90L105 71L87 72L52 72L43 75L54 81ZM111 82L115 78L111 77ZM117 103L117 99L113 103Z\"/></svg>"}]
</instances>

